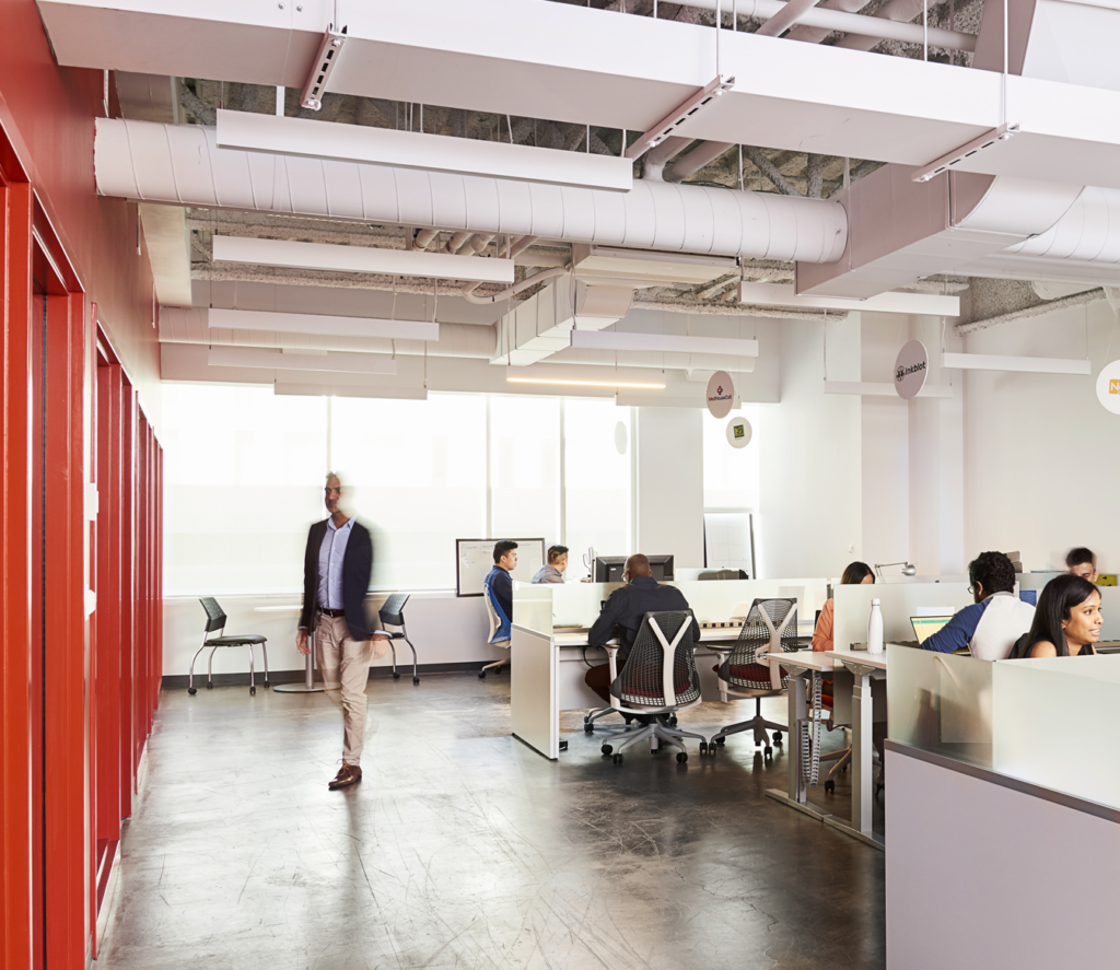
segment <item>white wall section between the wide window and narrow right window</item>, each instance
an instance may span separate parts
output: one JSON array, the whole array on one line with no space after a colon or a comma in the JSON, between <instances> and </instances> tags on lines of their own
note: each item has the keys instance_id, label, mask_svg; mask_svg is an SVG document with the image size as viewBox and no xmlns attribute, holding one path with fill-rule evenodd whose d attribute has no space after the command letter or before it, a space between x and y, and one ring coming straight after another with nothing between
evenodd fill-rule
<instances>
[{"instance_id":1,"label":"white wall section between the wide window and narrow right window","mask_svg":"<svg viewBox=\"0 0 1120 970\"><path fill-rule=\"evenodd\" d=\"M703 566L703 412L637 408L635 550L672 553L674 565Z\"/></svg>"}]
</instances>

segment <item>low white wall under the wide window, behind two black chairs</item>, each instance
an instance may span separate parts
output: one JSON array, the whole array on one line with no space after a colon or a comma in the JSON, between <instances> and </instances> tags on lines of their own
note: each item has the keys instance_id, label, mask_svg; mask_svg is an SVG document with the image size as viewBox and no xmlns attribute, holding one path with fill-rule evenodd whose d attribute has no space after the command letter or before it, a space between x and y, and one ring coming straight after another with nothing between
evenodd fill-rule
<instances>
[{"instance_id":1,"label":"low white wall under the wide window, behind two black chairs","mask_svg":"<svg viewBox=\"0 0 1120 970\"><path fill-rule=\"evenodd\" d=\"M384 603L384 596L367 600L371 615ZM218 603L226 612L225 632L260 633L268 637L269 670L302 670L304 657L296 650L296 628L299 624L298 595L288 596L222 596ZM278 610L276 607L289 606ZM268 609L262 610L262 607ZM479 663L508 656L486 643L489 627L486 623L482 597L454 594L414 593L404 607L409 640L417 649L417 657L424 663ZM195 597L171 596L164 599L164 673L186 674L190 657L198 650L203 637L206 614ZM205 683L206 657L203 651L195 664L195 677ZM256 654L256 674L263 665ZM391 656L375 661L374 666L389 666ZM412 663L412 653L403 641L396 643L398 670ZM246 647L222 647L214 654L214 673L244 673L249 670ZM196 685L198 682L196 681Z\"/></svg>"}]
</instances>

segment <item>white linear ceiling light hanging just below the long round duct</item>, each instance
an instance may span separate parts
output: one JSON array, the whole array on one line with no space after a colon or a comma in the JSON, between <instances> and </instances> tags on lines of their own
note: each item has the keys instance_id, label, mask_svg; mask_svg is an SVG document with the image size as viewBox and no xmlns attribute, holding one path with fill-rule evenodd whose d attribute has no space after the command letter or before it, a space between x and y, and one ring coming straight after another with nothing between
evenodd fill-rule
<instances>
[{"instance_id":1,"label":"white linear ceiling light hanging just below the long round duct","mask_svg":"<svg viewBox=\"0 0 1120 970\"><path fill-rule=\"evenodd\" d=\"M513 282L513 260L250 236L214 236L214 260L328 272L477 280L484 283Z\"/></svg>"}]
</instances>

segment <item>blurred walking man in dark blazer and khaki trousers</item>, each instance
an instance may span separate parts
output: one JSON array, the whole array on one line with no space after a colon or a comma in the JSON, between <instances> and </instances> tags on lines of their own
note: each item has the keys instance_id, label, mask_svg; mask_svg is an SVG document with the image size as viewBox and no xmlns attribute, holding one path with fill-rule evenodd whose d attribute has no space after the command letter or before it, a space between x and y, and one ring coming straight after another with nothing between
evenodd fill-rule
<instances>
[{"instance_id":1,"label":"blurred walking man in dark blazer and khaki trousers","mask_svg":"<svg viewBox=\"0 0 1120 970\"><path fill-rule=\"evenodd\" d=\"M308 632L315 631L316 660L326 690L342 691L343 766L328 787L345 789L362 781L365 744L365 688L370 679L373 643L365 595L373 572L370 530L340 507L343 486L327 475L324 498L329 516L316 522L307 535L304 556L304 610L296 646L302 654ZM385 641L385 636L374 640Z\"/></svg>"}]
</instances>

